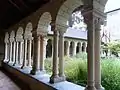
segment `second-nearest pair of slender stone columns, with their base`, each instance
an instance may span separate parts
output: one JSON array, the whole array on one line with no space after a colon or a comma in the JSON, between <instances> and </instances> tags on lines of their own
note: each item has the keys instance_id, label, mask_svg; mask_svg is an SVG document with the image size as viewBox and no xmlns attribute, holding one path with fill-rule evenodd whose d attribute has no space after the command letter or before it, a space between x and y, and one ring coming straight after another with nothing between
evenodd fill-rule
<instances>
[{"instance_id":1,"label":"second-nearest pair of slender stone columns, with their base","mask_svg":"<svg viewBox=\"0 0 120 90\"><path fill-rule=\"evenodd\" d=\"M64 32L54 30L53 35L53 67L52 76L50 77L50 83L60 82L65 80L64 75ZM58 42L59 41L59 42ZM59 43L59 72L58 72L58 43Z\"/></svg>"}]
</instances>

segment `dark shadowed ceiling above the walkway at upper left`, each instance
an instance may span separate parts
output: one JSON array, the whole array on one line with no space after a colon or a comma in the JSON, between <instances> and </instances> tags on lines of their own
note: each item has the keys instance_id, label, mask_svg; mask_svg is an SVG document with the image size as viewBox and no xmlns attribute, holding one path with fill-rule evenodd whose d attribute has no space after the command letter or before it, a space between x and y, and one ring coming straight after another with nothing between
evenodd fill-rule
<instances>
[{"instance_id":1,"label":"dark shadowed ceiling above the walkway at upper left","mask_svg":"<svg viewBox=\"0 0 120 90\"><path fill-rule=\"evenodd\" d=\"M1 0L0 29L7 29L50 0Z\"/></svg>"}]
</instances>

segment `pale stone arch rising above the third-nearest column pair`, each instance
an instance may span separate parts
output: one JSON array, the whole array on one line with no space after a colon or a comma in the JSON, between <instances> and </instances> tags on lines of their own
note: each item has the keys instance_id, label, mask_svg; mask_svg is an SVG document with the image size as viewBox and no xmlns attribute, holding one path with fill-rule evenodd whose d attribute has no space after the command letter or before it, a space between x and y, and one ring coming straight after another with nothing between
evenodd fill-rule
<instances>
[{"instance_id":1,"label":"pale stone arch rising above the third-nearest column pair","mask_svg":"<svg viewBox=\"0 0 120 90\"><path fill-rule=\"evenodd\" d=\"M42 31L42 32L48 32L48 27L51 23L52 17L49 12L45 12L42 14L40 17L40 20L38 21L38 28L37 31Z\"/></svg>"}]
</instances>

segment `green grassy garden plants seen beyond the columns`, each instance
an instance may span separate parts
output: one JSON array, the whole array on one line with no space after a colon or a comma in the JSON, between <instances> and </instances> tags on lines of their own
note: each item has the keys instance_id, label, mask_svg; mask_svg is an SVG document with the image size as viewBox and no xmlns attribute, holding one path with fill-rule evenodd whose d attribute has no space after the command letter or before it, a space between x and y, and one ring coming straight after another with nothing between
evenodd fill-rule
<instances>
[{"instance_id":1,"label":"green grassy garden plants seen beyond the columns","mask_svg":"<svg viewBox=\"0 0 120 90\"><path fill-rule=\"evenodd\" d=\"M74 57L65 57L65 74L67 80L82 86L87 84L87 56L85 53ZM45 68L51 74L52 59L45 60ZM118 58L101 60L102 86L106 90L120 90L120 61Z\"/></svg>"}]
</instances>

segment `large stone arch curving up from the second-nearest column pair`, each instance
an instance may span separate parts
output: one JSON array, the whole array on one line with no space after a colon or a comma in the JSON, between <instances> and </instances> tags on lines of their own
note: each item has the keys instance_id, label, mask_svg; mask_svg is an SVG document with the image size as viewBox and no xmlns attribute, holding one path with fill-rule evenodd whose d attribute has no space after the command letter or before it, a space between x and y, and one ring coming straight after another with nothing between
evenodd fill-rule
<instances>
[{"instance_id":1,"label":"large stone arch curving up from the second-nearest column pair","mask_svg":"<svg viewBox=\"0 0 120 90\"><path fill-rule=\"evenodd\" d=\"M83 5L82 0L66 0L60 7L57 17L56 25L57 27L67 28L67 21L72 14L72 12L79 6Z\"/></svg>"}]
</instances>

